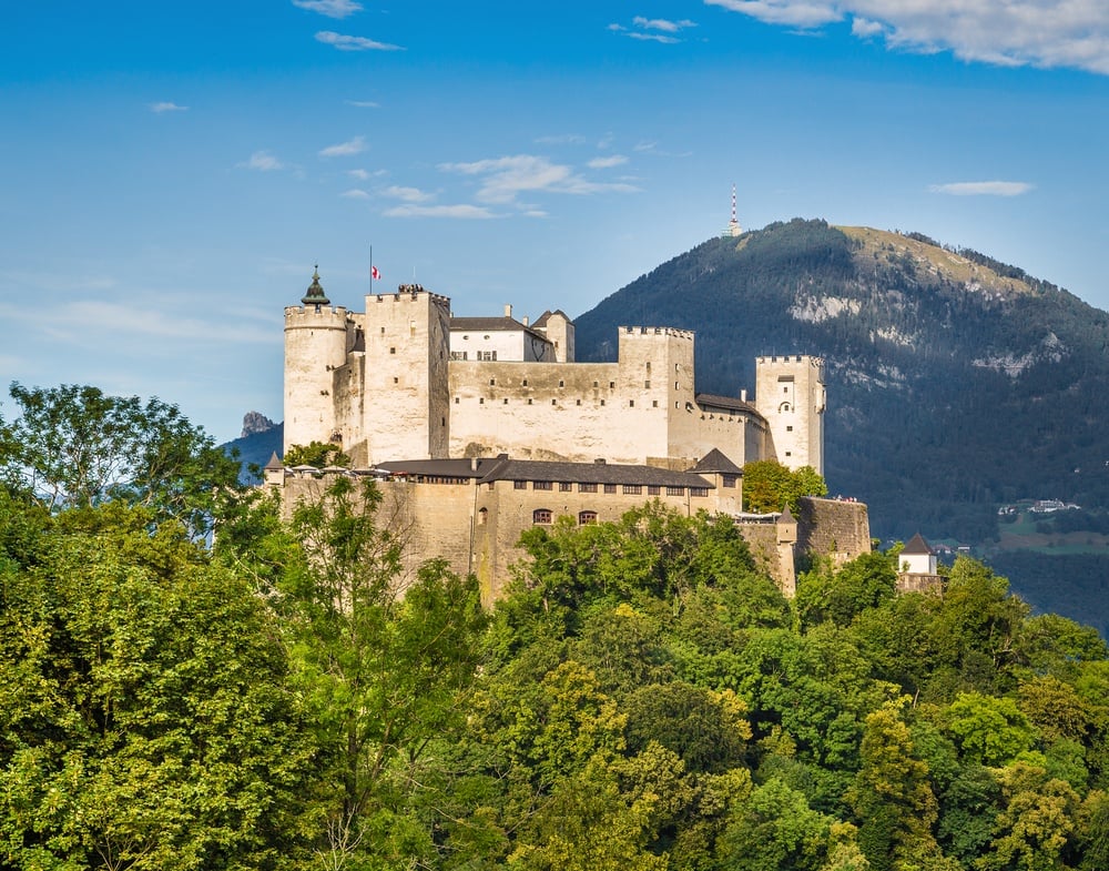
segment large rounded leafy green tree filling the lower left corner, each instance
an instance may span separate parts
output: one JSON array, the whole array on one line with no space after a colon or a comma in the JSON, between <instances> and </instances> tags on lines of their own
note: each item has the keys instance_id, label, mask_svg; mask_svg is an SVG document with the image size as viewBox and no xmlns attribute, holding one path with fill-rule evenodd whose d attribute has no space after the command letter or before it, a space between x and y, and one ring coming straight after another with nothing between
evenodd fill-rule
<instances>
[{"instance_id":1,"label":"large rounded leafy green tree filling the lower left corner","mask_svg":"<svg viewBox=\"0 0 1109 871\"><path fill-rule=\"evenodd\" d=\"M273 868L311 745L262 604L146 509L40 539L0 559L0 864Z\"/></svg>"}]
</instances>

